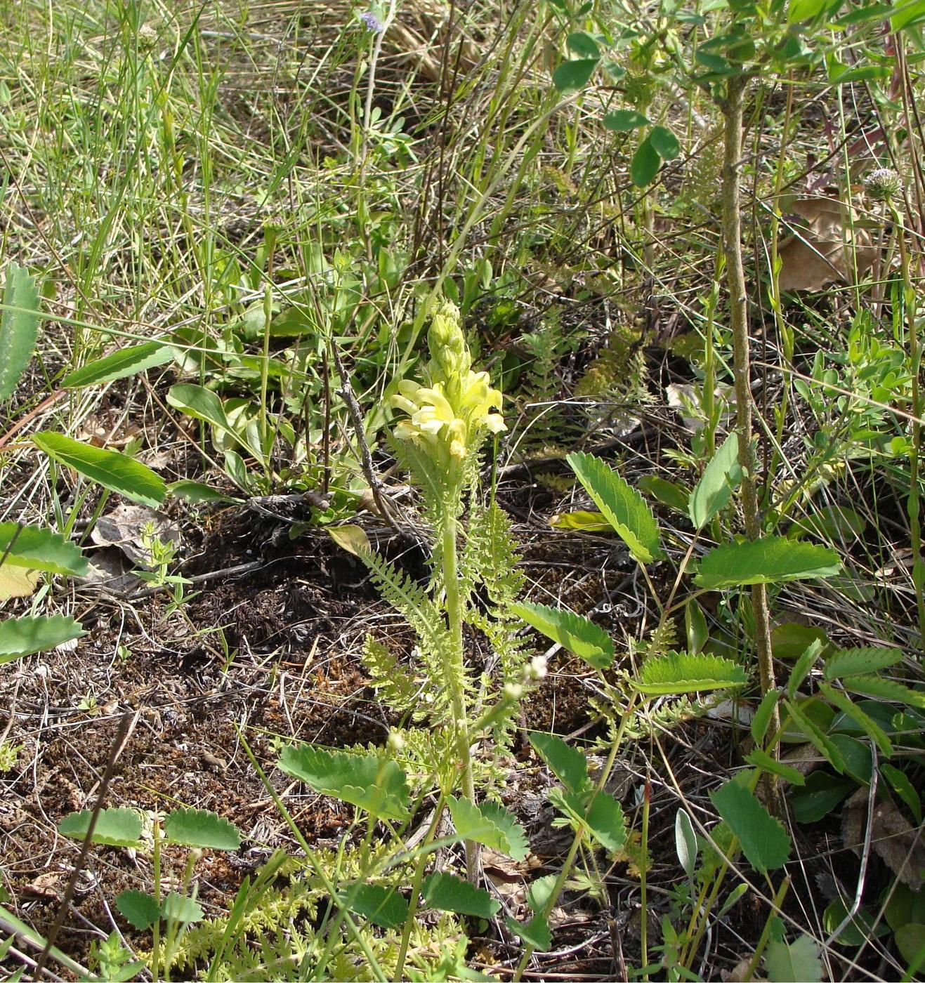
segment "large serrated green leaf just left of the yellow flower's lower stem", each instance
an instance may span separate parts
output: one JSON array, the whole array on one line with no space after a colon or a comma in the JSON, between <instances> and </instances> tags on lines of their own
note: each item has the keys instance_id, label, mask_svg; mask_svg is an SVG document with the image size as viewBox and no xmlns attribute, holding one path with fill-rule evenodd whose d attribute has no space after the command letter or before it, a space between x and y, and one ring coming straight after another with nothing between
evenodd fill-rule
<instances>
[{"instance_id":1,"label":"large serrated green leaf just left of the yellow flower's lower stem","mask_svg":"<svg viewBox=\"0 0 925 983\"><path fill-rule=\"evenodd\" d=\"M396 762L376 754L346 754L297 744L283 749L279 768L319 794L349 802L372 816L408 818L410 792L405 773Z\"/></svg>"}]
</instances>

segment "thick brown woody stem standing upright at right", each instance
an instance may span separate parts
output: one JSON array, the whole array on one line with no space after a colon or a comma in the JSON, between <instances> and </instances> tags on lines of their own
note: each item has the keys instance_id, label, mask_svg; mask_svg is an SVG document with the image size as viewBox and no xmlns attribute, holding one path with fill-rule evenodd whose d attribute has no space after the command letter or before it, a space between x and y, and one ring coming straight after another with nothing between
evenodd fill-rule
<instances>
[{"instance_id":1,"label":"thick brown woody stem standing upright at right","mask_svg":"<svg viewBox=\"0 0 925 983\"><path fill-rule=\"evenodd\" d=\"M752 394L749 385L751 358L748 338L748 300L745 269L742 264L742 218L739 208L739 178L742 154L742 96L745 76L735 76L726 85L723 112L723 253L726 285L729 291L729 321L732 328L732 364L735 377L735 429L738 432L739 466L742 469L742 512L745 533L750 540L761 538L758 497L755 492L755 449L752 445ZM777 683L771 653L771 615L764 584L752 587L752 611L755 621L755 649L762 695ZM777 709L772 726L779 722Z\"/></svg>"}]
</instances>

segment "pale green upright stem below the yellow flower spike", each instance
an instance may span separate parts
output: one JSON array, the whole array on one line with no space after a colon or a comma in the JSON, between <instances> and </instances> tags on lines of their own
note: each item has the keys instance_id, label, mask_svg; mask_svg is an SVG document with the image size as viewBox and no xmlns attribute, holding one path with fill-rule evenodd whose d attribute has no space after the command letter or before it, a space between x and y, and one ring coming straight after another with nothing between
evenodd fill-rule
<instances>
[{"instance_id":1,"label":"pale green upright stem below the yellow flower spike","mask_svg":"<svg viewBox=\"0 0 925 983\"><path fill-rule=\"evenodd\" d=\"M466 665L463 658L462 598L459 592L459 570L456 561L456 515L450 505L446 509L442 529L443 590L446 593L446 619L453 648L453 661L446 666L446 683L450 692L453 732L462 767L462 791L470 802L476 800L472 777L472 747L469 739L469 719L466 715ZM466 876L475 884L479 876L478 844L466 840Z\"/></svg>"}]
</instances>

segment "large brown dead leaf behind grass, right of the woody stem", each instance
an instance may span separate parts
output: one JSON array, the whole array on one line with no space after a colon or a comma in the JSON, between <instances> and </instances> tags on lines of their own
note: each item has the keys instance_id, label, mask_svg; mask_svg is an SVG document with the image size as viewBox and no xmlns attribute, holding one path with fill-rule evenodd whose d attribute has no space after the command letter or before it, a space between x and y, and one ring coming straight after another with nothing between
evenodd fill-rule
<instances>
[{"instance_id":1,"label":"large brown dead leaf behind grass, right of the woody stem","mask_svg":"<svg viewBox=\"0 0 925 983\"><path fill-rule=\"evenodd\" d=\"M852 264L865 272L877 255L870 233L854 225L854 254L851 259L848 211L833 198L800 198L789 205L798 218L790 222L793 235L780 244L780 289L822 290L827 283L853 279ZM852 275L849 276L849 270Z\"/></svg>"}]
</instances>

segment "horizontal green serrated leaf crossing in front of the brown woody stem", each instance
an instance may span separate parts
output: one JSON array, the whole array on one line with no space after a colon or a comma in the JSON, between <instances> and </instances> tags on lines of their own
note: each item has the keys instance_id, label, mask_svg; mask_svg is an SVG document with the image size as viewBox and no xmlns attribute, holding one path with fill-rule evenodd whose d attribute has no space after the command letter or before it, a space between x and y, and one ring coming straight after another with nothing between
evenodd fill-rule
<instances>
[{"instance_id":1,"label":"horizontal green serrated leaf crossing in front of the brown woody stem","mask_svg":"<svg viewBox=\"0 0 925 983\"><path fill-rule=\"evenodd\" d=\"M711 549L700 561L694 581L707 590L719 591L748 584L834 577L840 569L838 555L832 549L768 536Z\"/></svg>"}]
</instances>

